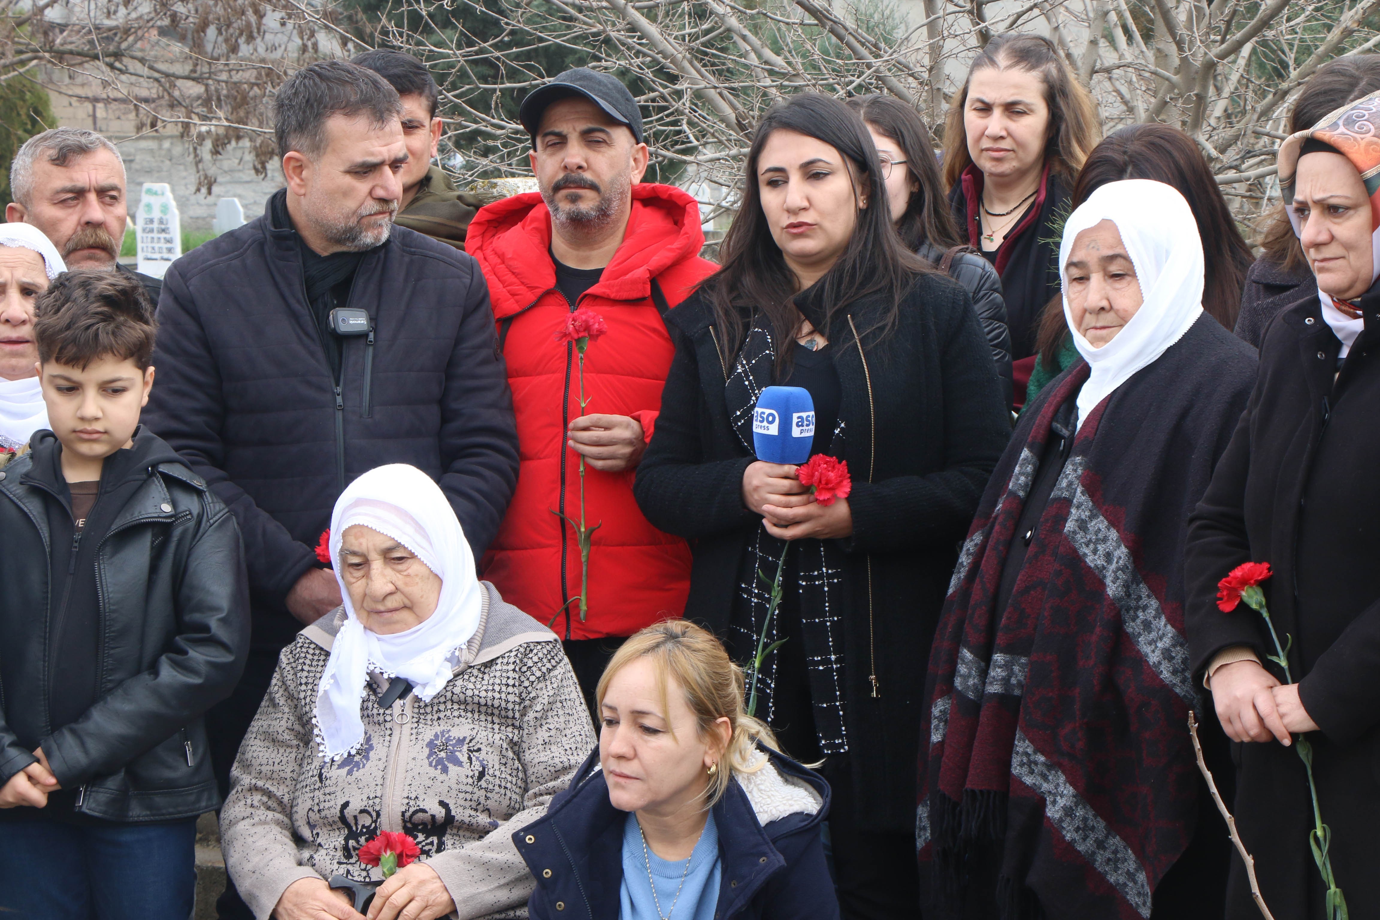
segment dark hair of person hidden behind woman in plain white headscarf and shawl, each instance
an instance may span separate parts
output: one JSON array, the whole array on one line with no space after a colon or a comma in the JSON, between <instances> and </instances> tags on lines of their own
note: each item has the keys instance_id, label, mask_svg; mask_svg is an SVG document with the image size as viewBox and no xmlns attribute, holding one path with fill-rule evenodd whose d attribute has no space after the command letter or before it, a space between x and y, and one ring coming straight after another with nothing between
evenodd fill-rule
<instances>
[{"instance_id":1,"label":"dark hair of person hidden behind woman in plain white headscarf and shawl","mask_svg":"<svg viewBox=\"0 0 1380 920\"><path fill-rule=\"evenodd\" d=\"M1174 186L1184 196L1203 243L1203 310L1223 328L1235 328L1236 314L1241 313L1241 288L1256 259L1236 229L1227 199L1213 181L1212 168L1198 145L1167 124L1126 126L1107 135L1087 156L1074 183L1074 207L1098 188L1121 179L1154 179ZM1046 368L1056 367L1067 334L1064 305L1056 298L1045 306L1035 341L1035 350Z\"/></svg>"}]
</instances>

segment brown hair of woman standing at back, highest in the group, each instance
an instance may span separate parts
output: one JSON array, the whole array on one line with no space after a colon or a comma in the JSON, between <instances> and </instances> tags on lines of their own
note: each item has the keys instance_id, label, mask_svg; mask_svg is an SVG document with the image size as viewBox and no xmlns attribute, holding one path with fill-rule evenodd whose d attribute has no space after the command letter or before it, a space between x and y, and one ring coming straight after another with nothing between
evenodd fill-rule
<instances>
[{"instance_id":1,"label":"brown hair of woman standing at back, highest in the group","mask_svg":"<svg viewBox=\"0 0 1380 920\"><path fill-rule=\"evenodd\" d=\"M1053 172L1072 178L1101 137L1097 103L1078 81L1053 41L1042 34L1005 32L992 36L987 47L977 52L967 68L963 86L949 103L944 120L944 185L952 189L963 175L963 170L973 166L973 157L967 152L967 131L963 128L963 109L967 106L967 87L973 81L973 74L989 68L1039 74L1045 84L1045 105L1049 106L1045 163Z\"/></svg>"}]
</instances>

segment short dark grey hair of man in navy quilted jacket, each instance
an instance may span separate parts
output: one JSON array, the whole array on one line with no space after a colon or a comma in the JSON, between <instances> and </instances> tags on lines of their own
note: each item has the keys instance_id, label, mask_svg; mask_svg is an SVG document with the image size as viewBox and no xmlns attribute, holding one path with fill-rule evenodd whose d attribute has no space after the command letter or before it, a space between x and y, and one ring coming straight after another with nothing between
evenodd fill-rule
<instances>
[{"instance_id":1,"label":"short dark grey hair of man in navy quilted jacket","mask_svg":"<svg viewBox=\"0 0 1380 920\"><path fill-rule=\"evenodd\" d=\"M349 61L317 61L279 87L273 99L277 156L297 150L310 159L326 149L326 121L333 114L363 114L375 126L403 114L397 90L367 68Z\"/></svg>"}]
</instances>

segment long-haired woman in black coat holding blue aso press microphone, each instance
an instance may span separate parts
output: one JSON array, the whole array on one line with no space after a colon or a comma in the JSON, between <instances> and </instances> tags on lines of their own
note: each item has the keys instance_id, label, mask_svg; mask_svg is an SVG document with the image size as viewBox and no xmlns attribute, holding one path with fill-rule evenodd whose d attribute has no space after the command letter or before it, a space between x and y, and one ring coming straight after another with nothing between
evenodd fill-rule
<instances>
[{"instance_id":1,"label":"long-haired woman in black coat holding blue aso press microphone","mask_svg":"<svg viewBox=\"0 0 1380 920\"><path fill-rule=\"evenodd\" d=\"M774 105L745 178L722 268L667 314L676 357L635 494L691 541L684 615L749 684L770 650L755 714L824 761L843 916L911 916L925 662L1006 446L1002 390L969 295L896 234L856 113L816 94ZM769 386L806 390L813 419ZM767 459L806 430L795 462ZM821 454L847 465L836 497L800 481Z\"/></svg>"}]
</instances>

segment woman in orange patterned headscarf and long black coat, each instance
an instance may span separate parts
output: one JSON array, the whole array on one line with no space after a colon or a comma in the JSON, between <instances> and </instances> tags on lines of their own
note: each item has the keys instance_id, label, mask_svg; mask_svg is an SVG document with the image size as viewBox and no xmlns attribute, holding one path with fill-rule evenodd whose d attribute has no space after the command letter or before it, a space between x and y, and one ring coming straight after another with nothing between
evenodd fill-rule
<instances>
[{"instance_id":1,"label":"woman in orange patterned headscarf and long black coat","mask_svg":"<svg viewBox=\"0 0 1380 920\"><path fill-rule=\"evenodd\" d=\"M1194 673L1239 742L1236 826L1276 917L1329 916L1305 770L1290 750L1304 734L1350 914L1380 912L1380 266L1376 196L1361 178L1380 166L1377 113L1380 92L1281 146L1281 189L1317 284L1270 326L1256 389L1190 530ZM1214 603L1219 579L1245 561L1274 567L1263 588L1297 683L1268 662L1259 614ZM1227 916L1259 916L1239 861Z\"/></svg>"}]
</instances>

